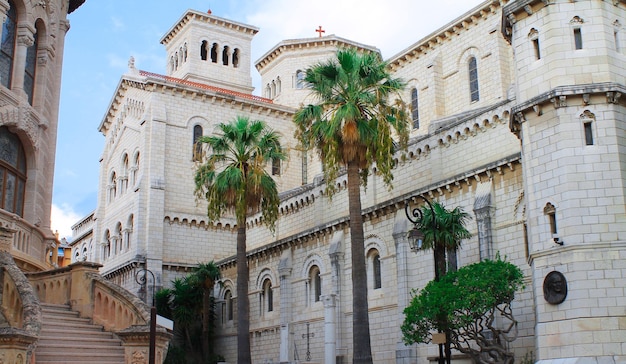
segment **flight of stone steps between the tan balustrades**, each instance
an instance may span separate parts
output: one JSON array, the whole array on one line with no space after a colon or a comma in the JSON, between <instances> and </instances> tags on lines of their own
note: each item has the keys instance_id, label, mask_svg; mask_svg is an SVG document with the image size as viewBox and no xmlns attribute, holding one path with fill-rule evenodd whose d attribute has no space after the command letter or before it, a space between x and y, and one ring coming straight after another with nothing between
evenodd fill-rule
<instances>
[{"instance_id":1,"label":"flight of stone steps between the tan balustrades","mask_svg":"<svg viewBox=\"0 0 626 364\"><path fill-rule=\"evenodd\" d=\"M123 364L122 341L102 326L78 317L67 305L41 304L43 325L37 364Z\"/></svg>"}]
</instances>

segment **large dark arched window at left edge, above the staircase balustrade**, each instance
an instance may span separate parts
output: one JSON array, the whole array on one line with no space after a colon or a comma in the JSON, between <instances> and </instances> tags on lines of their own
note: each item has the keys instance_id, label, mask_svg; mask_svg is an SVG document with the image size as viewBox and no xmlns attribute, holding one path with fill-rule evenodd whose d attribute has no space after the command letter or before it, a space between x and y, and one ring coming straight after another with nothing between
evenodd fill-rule
<instances>
[{"instance_id":1,"label":"large dark arched window at left edge, above the staircase balustrade","mask_svg":"<svg viewBox=\"0 0 626 364\"><path fill-rule=\"evenodd\" d=\"M6 126L0 127L0 188L0 207L23 216L26 154L18 136L11 133Z\"/></svg>"}]
</instances>

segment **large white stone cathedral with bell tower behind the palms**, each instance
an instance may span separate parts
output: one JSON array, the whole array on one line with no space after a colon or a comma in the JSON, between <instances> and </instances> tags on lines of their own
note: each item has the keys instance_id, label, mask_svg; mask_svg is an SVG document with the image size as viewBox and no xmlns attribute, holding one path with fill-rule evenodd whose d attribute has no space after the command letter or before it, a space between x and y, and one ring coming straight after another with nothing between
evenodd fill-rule
<instances>
[{"instance_id":1,"label":"large white stone cathedral with bell tower behind the palms","mask_svg":"<svg viewBox=\"0 0 626 364\"><path fill-rule=\"evenodd\" d=\"M412 128L393 189L374 174L361 191L375 363L437 357L436 345L407 345L399 329L414 290L433 279L432 252L407 239L405 207L423 198L471 214L459 266L500 255L523 271L509 344L516 362L626 360L622 23L624 0L487 0L385 60L406 82ZM130 59L99 126L98 204L75 225L73 259L102 264L104 277L135 293L138 270L168 287L215 261L223 276L214 292L217 351L235 363L236 224L228 216L208 222L206 202L195 199L195 142L237 116L263 120L289 158L268 165L281 197L275 231L260 216L246 224L253 361L348 363L347 181L323 179L315 152L297 144L292 118L313 102L308 67L338 49L379 51L320 32L253 60L258 31L189 10L161 38L166 74ZM339 191L332 200L328 183ZM546 284L550 277L559 289Z\"/></svg>"}]
</instances>

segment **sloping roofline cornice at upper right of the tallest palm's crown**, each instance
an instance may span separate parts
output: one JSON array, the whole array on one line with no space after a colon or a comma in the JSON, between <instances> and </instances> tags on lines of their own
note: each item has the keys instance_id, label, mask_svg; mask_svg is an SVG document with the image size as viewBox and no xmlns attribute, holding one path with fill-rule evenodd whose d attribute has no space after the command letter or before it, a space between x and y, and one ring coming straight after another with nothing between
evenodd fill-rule
<instances>
[{"instance_id":1,"label":"sloping roofline cornice at upper right of the tallest palm's crown","mask_svg":"<svg viewBox=\"0 0 626 364\"><path fill-rule=\"evenodd\" d=\"M389 67L393 70L401 68L405 63L434 51L444 42L451 41L455 36L461 34L461 32L467 31L470 27L481 22L481 20L486 20L491 14L495 14L502 5L508 2L508 0L489 0L483 2L391 57L388 61Z\"/></svg>"}]
</instances>

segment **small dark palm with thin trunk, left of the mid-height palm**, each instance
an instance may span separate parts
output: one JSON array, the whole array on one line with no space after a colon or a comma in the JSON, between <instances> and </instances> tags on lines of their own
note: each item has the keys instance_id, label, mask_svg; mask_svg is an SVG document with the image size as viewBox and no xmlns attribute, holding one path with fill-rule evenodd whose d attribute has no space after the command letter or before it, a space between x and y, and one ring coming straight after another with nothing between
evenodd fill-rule
<instances>
[{"instance_id":1,"label":"small dark palm with thin trunk, left of the mid-height palm","mask_svg":"<svg viewBox=\"0 0 626 364\"><path fill-rule=\"evenodd\" d=\"M209 360L209 331L211 322L211 290L222 273L215 262L198 264L193 270L193 277L202 287L202 355L205 362Z\"/></svg>"}]
</instances>

